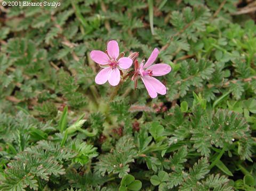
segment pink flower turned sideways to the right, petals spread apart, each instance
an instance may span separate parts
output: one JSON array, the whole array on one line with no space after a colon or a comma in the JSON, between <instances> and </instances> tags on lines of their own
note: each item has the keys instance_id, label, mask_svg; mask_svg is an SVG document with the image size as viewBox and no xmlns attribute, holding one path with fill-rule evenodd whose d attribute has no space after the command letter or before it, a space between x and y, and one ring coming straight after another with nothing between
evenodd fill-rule
<instances>
[{"instance_id":1,"label":"pink flower turned sideways to the right, petals spread apart","mask_svg":"<svg viewBox=\"0 0 256 191\"><path fill-rule=\"evenodd\" d=\"M161 95L166 94L166 87L153 76L163 76L171 71L171 67L168 64L152 65L158 54L159 51L155 48L145 65L143 63L144 60L140 63L140 67L138 61L134 63L135 73L132 80L135 80L135 87L137 86L137 77L140 76L151 98L157 97L157 93Z\"/></svg>"}]
</instances>

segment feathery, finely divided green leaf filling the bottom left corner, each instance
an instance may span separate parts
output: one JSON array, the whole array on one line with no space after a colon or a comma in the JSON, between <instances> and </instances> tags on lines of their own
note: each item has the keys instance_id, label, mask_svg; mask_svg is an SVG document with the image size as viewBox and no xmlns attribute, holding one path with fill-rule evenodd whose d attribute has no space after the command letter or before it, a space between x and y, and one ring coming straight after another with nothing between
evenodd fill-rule
<instances>
[{"instance_id":1,"label":"feathery, finely divided green leaf filling the bottom left corner","mask_svg":"<svg viewBox=\"0 0 256 191\"><path fill-rule=\"evenodd\" d=\"M74 154L67 148L60 148L51 142L38 142L19 153L5 170L2 190L26 190L26 187L37 190L50 177L58 178L65 174L62 162L69 160Z\"/></svg>"}]
</instances>

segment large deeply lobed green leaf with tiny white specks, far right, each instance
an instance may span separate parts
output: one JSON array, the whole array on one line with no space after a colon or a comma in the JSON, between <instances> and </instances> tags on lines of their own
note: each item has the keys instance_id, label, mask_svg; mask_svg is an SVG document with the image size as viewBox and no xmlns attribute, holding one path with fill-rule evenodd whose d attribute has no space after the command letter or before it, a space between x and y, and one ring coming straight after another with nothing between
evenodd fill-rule
<instances>
[{"instance_id":1,"label":"large deeply lobed green leaf with tiny white specks, far right","mask_svg":"<svg viewBox=\"0 0 256 191\"><path fill-rule=\"evenodd\" d=\"M219 110L215 114L208 114L200 119L196 117L197 113L199 114L198 110L194 112L195 117L192 118L194 126L191 130L191 140L202 155L209 156L211 145L227 147L233 144L235 138L243 140L250 135L249 126L239 114Z\"/></svg>"}]
</instances>

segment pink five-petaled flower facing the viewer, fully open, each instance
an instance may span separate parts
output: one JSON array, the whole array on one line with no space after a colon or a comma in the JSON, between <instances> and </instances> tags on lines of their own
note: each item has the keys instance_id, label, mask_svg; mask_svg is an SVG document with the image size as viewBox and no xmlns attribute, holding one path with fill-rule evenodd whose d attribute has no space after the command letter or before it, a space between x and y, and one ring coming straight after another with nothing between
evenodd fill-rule
<instances>
[{"instance_id":1,"label":"pink five-petaled flower facing the viewer, fully open","mask_svg":"<svg viewBox=\"0 0 256 191\"><path fill-rule=\"evenodd\" d=\"M107 54L102 51L92 51L90 56L94 62L105 66L95 77L96 84L100 85L105 84L107 81L111 86L118 85L120 81L119 70L130 68L133 62L130 57L121 57L118 59L119 46L115 40L109 41Z\"/></svg>"}]
</instances>

